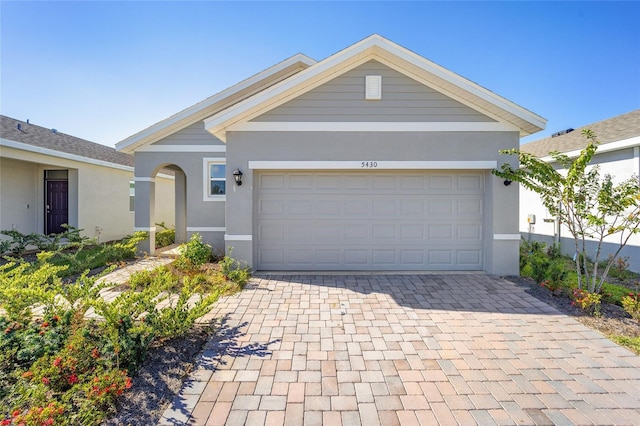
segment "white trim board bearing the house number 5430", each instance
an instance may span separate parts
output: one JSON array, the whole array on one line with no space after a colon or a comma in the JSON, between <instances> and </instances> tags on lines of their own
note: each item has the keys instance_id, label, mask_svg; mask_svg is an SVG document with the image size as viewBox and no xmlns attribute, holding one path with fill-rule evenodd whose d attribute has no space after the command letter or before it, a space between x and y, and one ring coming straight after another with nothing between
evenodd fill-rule
<instances>
[{"instance_id":1,"label":"white trim board bearing the house number 5430","mask_svg":"<svg viewBox=\"0 0 640 426\"><path fill-rule=\"evenodd\" d=\"M249 161L254 170L491 170L497 161Z\"/></svg>"}]
</instances>

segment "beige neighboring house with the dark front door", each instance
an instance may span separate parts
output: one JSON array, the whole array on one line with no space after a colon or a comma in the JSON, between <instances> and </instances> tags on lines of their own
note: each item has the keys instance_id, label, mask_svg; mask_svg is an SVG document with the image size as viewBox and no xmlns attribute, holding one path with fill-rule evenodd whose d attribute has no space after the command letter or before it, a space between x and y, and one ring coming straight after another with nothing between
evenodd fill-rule
<instances>
[{"instance_id":1,"label":"beige neighboring house with the dark front door","mask_svg":"<svg viewBox=\"0 0 640 426\"><path fill-rule=\"evenodd\" d=\"M100 242L133 232L133 156L6 116L0 124L0 230L51 234L68 224ZM171 225L173 176L158 181L156 217Z\"/></svg>"}]
</instances>

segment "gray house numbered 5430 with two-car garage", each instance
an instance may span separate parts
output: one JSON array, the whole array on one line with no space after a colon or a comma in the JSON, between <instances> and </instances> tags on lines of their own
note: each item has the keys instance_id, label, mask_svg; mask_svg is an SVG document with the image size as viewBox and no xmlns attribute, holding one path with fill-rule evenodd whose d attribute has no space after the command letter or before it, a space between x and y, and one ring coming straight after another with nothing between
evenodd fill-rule
<instances>
[{"instance_id":1,"label":"gray house numbered 5430 with two-car garage","mask_svg":"<svg viewBox=\"0 0 640 426\"><path fill-rule=\"evenodd\" d=\"M142 203L173 165L180 238L254 270L518 274L518 187L491 170L545 123L373 35L320 62L295 55L116 147L135 155L147 249Z\"/></svg>"}]
</instances>

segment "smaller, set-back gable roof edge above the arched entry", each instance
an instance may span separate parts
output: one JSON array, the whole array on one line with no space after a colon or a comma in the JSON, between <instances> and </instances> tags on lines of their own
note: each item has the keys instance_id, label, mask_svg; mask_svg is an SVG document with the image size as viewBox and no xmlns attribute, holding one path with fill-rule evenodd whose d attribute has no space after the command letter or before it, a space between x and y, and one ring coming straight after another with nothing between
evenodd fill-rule
<instances>
[{"instance_id":1,"label":"smaller, set-back gable roof edge above the arched entry","mask_svg":"<svg viewBox=\"0 0 640 426\"><path fill-rule=\"evenodd\" d=\"M298 53L118 142L116 149L133 153L139 146L152 144L198 121L211 117L217 112L259 91L265 90L315 63L315 60Z\"/></svg>"}]
</instances>

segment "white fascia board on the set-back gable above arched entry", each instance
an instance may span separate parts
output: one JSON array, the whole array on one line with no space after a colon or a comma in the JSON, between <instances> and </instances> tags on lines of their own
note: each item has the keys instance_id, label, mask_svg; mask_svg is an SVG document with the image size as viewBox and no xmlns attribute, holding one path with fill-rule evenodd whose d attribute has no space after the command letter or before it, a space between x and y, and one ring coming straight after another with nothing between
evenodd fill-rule
<instances>
[{"instance_id":1,"label":"white fascia board on the set-back gable above arched entry","mask_svg":"<svg viewBox=\"0 0 640 426\"><path fill-rule=\"evenodd\" d=\"M277 74L280 71L285 70L286 68L294 65L297 62L301 62L307 66L312 66L316 63L314 59L311 59L308 56L303 55L302 53L298 53L288 59L285 59L282 62L277 63L276 65L270 68L267 68L264 71L259 72L258 74L255 74L223 90L222 92L219 92L213 96L210 96L207 99L201 102L198 102L197 104L190 106L189 108L186 108L178 112L177 114L170 116L169 118L166 118L132 136L129 136L128 138L118 142L116 144L116 149L118 151L124 151L124 152L130 153L134 150L136 144L138 144L139 142L147 138L151 138L156 133L163 133L163 134L171 133L170 130L173 130L173 127L175 126L180 126L180 123L183 120L188 120L189 117L191 117L192 115L197 114L198 112L206 108L212 107L217 103L221 103L227 100L228 98L232 97L234 94L237 94L238 92L241 92L247 87L253 84L256 84L261 80L264 80L274 74Z\"/></svg>"}]
</instances>

